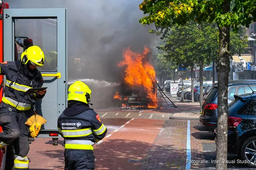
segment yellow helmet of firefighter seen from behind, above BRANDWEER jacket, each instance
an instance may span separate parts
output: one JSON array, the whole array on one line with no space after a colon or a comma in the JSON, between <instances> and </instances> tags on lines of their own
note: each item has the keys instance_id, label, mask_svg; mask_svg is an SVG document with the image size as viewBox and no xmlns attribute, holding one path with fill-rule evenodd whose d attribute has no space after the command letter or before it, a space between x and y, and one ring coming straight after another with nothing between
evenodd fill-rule
<instances>
[{"instance_id":1,"label":"yellow helmet of firefighter seen from behind, above BRANDWEER jacket","mask_svg":"<svg viewBox=\"0 0 256 170\"><path fill-rule=\"evenodd\" d=\"M68 89L68 101L70 100L88 104L91 101L91 89L81 81L74 82Z\"/></svg>"}]
</instances>

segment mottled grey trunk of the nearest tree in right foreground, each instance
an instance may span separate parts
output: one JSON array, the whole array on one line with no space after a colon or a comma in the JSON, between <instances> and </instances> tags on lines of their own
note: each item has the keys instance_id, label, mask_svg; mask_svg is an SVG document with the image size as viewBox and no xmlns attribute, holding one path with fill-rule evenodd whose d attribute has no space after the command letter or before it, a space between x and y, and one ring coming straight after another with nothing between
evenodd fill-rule
<instances>
[{"instance_id":1,"label":"mottled grey trunk of the nearest tree in right foreground","mask_svg":"<svg viewBox=\"0 0 256 170\"><path fill-rule=\"evenodd\" d=\"M230 3L227 0L223 2L224 12L230 9ZM230 27L219 28L219 58L217 63L218 75L218 119L217 119L217 146L216 159L227 160L227 113L228 113L228 76L230 71L229 45L230 45ZM220 162L216 164L216 170L226 170L227 164Z\"/></svg>"}]
</instances>

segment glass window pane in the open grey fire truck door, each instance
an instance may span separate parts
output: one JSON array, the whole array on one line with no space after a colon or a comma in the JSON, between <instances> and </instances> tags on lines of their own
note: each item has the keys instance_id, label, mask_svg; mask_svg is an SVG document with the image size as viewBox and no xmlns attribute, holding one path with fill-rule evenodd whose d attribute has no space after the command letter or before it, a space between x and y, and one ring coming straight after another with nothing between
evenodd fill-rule
<instances>
[{"instance_id":1,"label":"glass window pane in the open grey fire truck door","mask_svg":"<svg viewBox=\"0 0 256 170\"><path fill-rule=\"evenodd\" d=\"M15 19L15 36L31 38L33 45L39 46L45 56L44 67L40 71L57 71L57 19ZM20 38L24 42L24 38ZM23 52L17 46L17 55Z\"/></svg>"}]
</instances>

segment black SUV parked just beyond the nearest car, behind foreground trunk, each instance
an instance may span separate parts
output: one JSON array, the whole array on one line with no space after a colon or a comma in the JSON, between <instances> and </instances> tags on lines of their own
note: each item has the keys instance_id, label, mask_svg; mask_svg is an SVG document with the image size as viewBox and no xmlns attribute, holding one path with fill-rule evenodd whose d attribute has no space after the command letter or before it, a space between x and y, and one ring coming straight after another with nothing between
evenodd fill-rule
<instances>
[{"instance_id":1,"label":"black SUV parked just beyond the nearest car, behind foreground trunk","mask_svg":"<svg viewBox=\"0 0 256 170\"><path fill-rule=\"evenodd\" d=\"M242 95L252 92L247 84L250 85L253 91L256 91L256 80L234 80L228 82L228 104L234 100L234 95ZM200 124L210 131L214 131L217 127L217 92L218 87L217 85L214 85L203 100L203 111L202 115L199 117Z\"/></svg>"}]
</instances>

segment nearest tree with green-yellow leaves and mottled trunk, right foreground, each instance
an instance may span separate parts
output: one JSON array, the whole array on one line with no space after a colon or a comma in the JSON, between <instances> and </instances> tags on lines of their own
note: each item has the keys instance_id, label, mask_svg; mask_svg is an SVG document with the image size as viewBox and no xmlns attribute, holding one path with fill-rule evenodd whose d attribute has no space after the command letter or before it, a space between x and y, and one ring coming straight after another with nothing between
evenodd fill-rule
<instances>
[{"instance_id":1,"label":"nearest tree with green-yellow leaves and mottled trunk, right foreground","mask_svg":"<svg viewBox=\"0 0 256 170\"><path fill-rule=\"evenodd\" d=\"M227 86L230 58L230 28L238 31L239 25L249 27L256 21L255 0L144 0L139 8L148 14L140 19L143 25L155 23L163 27L170 27L173 23L186 24L195 20L215 21L219 31L219 51L217 60L218 76L218 132L217 132L217 160L227 159ZM217 169L227 169L227 164L216 164Z\"/></svg>"}]
</instances>

